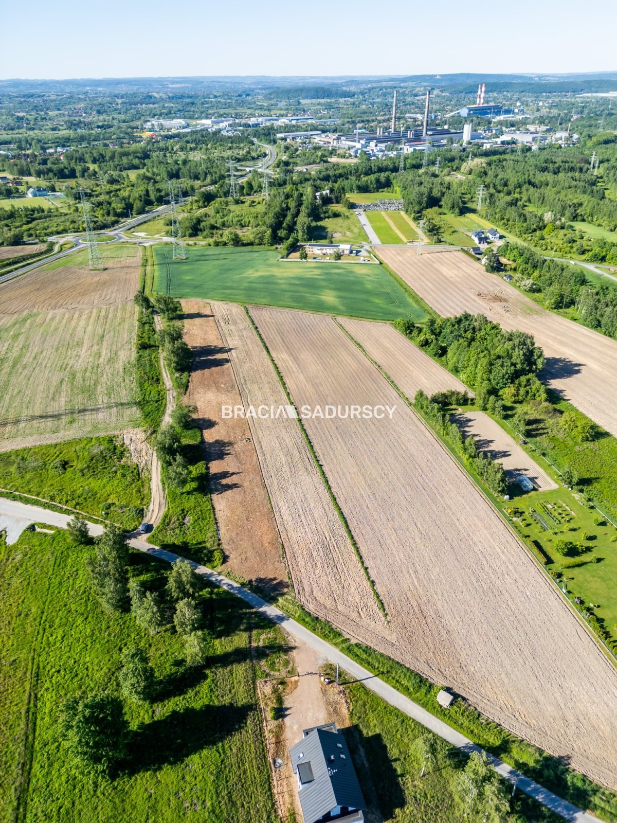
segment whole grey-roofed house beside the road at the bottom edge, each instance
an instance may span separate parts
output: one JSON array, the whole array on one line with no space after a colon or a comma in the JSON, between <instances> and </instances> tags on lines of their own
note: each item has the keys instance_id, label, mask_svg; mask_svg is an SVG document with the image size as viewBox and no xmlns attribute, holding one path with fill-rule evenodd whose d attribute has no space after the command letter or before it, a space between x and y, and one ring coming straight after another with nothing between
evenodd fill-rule
<instances>
[{"instance_id":1,"label":"whole grey-roofed house beside the road at the bottom edge","mask_svg":"<svg viewBox=\"0 0 617 823\"><path fill-rule=\"evenodd\" d=\"M336 723L302 733L302 740L290 748L290 758L304 823L362 823L364 797Z\"/></svg>"}]
</instances>

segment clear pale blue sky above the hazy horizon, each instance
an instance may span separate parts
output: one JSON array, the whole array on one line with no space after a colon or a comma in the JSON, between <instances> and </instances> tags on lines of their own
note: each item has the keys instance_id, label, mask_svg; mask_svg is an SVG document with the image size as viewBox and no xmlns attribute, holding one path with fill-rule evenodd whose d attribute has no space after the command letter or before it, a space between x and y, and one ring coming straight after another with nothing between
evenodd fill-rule
<instances>
[{"instance_id":1,"label":"clear pale blue sky above the hazy horizon","mask_svg":"<svg viewBox=\"0 0 617 823\"><path fill-rule=\"evenodd\" d=\"M593 72L616 30L614 0L30 0L4 4L0 77Z\"/></svg>"}]
</instances>

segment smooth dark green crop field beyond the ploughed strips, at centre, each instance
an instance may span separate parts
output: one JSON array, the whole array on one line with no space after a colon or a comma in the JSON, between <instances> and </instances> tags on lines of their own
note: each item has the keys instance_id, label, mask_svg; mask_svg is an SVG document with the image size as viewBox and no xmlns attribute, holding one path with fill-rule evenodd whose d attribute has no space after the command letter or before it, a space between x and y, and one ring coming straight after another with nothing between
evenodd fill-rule
<instances>
[{"instance_id":1,"label":"smooth dark green crop field beyond the ploughed strips, at centre","mask_svg":"<svg viewBox=\"0 0 617 823\"><path fill-rule=\"evenodd\" d=\"M173 260L171 246L154 249L154 291L174 297L345 314L369 319L424 319L424 311L383 266L279 261L266 249L189 247Z\"/></svg>"}]
</instances>

